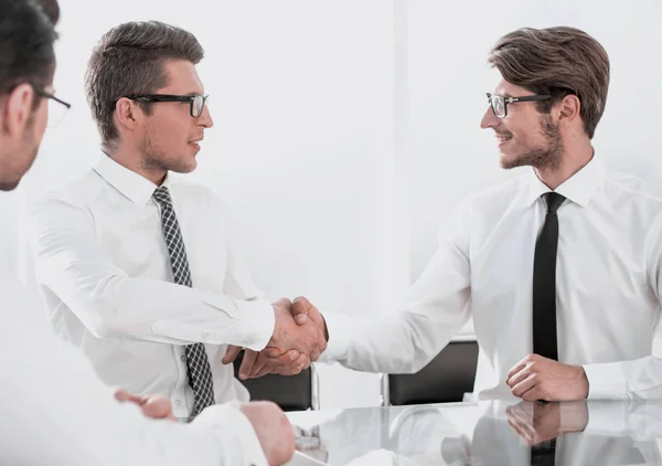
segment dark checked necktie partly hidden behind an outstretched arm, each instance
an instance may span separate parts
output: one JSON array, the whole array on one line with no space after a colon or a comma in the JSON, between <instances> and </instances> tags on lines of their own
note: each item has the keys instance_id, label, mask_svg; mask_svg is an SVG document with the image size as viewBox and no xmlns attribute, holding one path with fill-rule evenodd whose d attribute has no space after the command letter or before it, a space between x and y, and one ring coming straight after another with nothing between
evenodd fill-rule
<instances>
[{"instance_id":1,"label":"dark checked necktie partly hidden behind an outstretched arm","mask_svg":"<svg viewBox=\"0 0 662 466\"><path fill-rule=\"evenodd\" d=\"M168 188L157 188L153 194L154 201L161 206L161 227L166 236L166 245L170 255L170 266L174 283L178 285L193 286L191 272L189 271L189 258L182 233L177 221L172 200ZM193 389L194 406L191 416L197 415L205 407L214 404L214 385L212 381L212 369L204 345L188 345L184 348L186 356L186 368L189 384Z\"/></svg>"}]
</instances>

